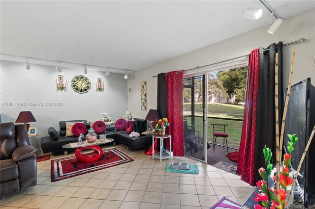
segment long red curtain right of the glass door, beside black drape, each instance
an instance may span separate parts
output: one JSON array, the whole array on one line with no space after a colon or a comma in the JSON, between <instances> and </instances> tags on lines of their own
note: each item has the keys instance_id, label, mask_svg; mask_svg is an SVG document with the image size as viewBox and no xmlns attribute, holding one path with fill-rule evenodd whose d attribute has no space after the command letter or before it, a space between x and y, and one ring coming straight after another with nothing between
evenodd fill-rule
<instances>
[{"instance_id":1,"label":"long red curtain right of the glass door, beside black drape","mask_svg":"<svg viewBox=\"0 0 315 209\"><path fill-rule=\"evenodd\" d=\"M250 54L244 120L236 173L244 182L255 185L255 138L258 102L259 51ZM258 171L257 171L258 172Z\"/></svg>"}]
</instances>

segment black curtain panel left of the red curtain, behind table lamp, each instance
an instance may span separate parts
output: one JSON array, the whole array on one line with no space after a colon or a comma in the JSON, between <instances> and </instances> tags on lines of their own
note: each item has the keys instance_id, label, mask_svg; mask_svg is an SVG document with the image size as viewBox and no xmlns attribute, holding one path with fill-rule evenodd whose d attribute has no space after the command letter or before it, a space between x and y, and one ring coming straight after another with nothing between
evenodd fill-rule
<instances>
[{"instance_id":1,"label":"black curtain panel left of the red curtain, behind table lamp","mask_svg":"<svg viewBox=\"0 0 315 209\"><path fill-rule=\"evenodd\" d=\"M167 118L166 80L165 73L158 74L158 114L160 118Z\"/></svg>"}]
</instances>

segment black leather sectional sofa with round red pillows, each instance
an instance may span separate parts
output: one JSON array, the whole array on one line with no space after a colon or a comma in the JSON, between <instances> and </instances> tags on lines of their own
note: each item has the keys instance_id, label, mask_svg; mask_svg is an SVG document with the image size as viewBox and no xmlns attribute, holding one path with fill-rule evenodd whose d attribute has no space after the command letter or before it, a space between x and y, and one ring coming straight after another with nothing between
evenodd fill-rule
<instances>
[{"instance_id":1,"label":"black leather sectional sofa with round red pillows","mask_svg":"<svg viewBox=\"0 0 315 209\"><path fill-rule=\"evenodd\" d=\"M87 127L87 130L90 129L90 124L87 123L87 120L69 120L67 122L82 122ZM143 132L146 131L147 121L143 119L135 118L132 123L132 129L135 132ZM54 153L54 154L63 154L64 151L68 149L62 148L63 145L77 142L77 136L65 136L65 121L59 122L60 131L59 134L54 128L49 128L48 133L49 136L45 136L41 138L41 148L44 153ZM128 148L136 149L136 148L144 148L152 145L152 136L151 135L141 135L140 137L130 137L126 131L118 131L114 130L114 127L107 126L106 127L106 138L113 138L113 144L120 143L125 145ZM100 135L100 134L97 134Z\"/></svg>"}]
</instances>

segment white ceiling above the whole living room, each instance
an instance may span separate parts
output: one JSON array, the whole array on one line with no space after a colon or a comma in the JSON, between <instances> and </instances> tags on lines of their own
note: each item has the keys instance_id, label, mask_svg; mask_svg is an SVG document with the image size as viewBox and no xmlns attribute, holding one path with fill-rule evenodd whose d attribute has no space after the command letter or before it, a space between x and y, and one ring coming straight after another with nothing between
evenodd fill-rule
<instances>
[{"instance_id":1,"label":"white ceiling above the whole living room","mask_svg":"<svg viewBox=\"0 0 315 209\"><path fill-rule=\"evenodd\" d=\"M260 1L260 19L243 17L252 2L1 0L0 50L139 70L268 25ZM267 3L284 19L315 7L313 0Z\"/></svg>"}]
</instances>

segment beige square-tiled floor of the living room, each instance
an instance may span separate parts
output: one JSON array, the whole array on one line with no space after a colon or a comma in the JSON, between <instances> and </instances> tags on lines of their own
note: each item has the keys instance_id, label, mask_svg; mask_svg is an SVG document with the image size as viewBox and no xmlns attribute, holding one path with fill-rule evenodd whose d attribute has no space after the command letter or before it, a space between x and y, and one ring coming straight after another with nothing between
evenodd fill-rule
<instances>
[{"instance_id":1,"label":"beige square-tiled floor of the living room","mask_svg":"<svg viewBox=\"0 0 315 209\"><path fill-rule=\"evenodd\" d=\"M115 147L134 161L58 182L50 180L50 160L38 162L37 185L0 199L0 208L209 209L224 196L242 205L254 190L239 176L189 157L160 163L143 150ZM170 162L198 165L199 174L166 172Z\"/></svg>"}]
</instances>

